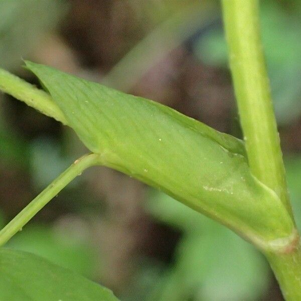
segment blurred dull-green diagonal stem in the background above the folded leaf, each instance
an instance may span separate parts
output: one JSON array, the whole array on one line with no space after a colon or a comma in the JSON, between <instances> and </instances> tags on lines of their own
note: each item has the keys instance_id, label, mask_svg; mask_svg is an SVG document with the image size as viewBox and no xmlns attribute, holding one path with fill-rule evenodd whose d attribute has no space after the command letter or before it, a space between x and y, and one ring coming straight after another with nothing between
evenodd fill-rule
<instances>
[{"instance_id":1,"label":"blurred dull-green diagonal stem in the background above the folded leaf","mask_svg":"<svg viewBox=\"0 0 301 301\"><path fill-rule=\"evenodd\" d=\"M137 2L132 4L137 6ZM148 5L148 2L144 2L143 5L139 3L137 7L151 12L146 9ZM111 68L102 79L104 85L124 92L129 91L150 67L183 44L190 35L206 27L215 15L212 2L192 1L191 5L187 5L187 2L158 2L158 7L158 10L155 10L156 19L164 17L163 21L154 21L155 24L159 24ZM168 7L168 14L158 13L160 9L165 10L166 7ZM174 14L171 14L171 11ZM129 73L131 76L127 76Z\"/></svg>"}]
</instances>

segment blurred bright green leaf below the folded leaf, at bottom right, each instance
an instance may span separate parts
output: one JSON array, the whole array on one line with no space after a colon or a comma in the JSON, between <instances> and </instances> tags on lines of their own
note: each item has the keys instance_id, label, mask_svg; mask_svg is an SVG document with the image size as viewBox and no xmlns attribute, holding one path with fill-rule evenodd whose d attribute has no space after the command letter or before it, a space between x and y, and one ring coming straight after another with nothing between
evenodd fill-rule
<instances>
[{"instance_id":1,"label":"blurred bright green leaf below the folded leaf, at bottom right","mask_svg":"<svg viewBox=\"0 0 301 301\"><path fill-rule=\"evenodd\" d=\"M256 300L269 281L268 265L254 247L228 229L160 192L147 211L184 231L175 264L157 287L157 298L176 300ZM159 297L158 297L159 295Z\"/></svg>"}]
</instances>

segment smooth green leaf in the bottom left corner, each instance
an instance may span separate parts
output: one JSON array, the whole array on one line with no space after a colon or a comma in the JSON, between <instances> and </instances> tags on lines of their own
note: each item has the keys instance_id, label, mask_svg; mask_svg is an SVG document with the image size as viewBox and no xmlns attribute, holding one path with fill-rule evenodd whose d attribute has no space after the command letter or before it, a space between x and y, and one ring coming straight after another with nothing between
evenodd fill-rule
<instances>
[{"instance_id":1,"label":"smooth green leaf in the bottom left corner","mask_svg":"<svg viewBox=\"0 0 301 301\"><path fill-rule=\"evenodd\" d=\"M0 299L116 301L113 293L31 253L0 249Z\"/></svg>"}]
</instances>

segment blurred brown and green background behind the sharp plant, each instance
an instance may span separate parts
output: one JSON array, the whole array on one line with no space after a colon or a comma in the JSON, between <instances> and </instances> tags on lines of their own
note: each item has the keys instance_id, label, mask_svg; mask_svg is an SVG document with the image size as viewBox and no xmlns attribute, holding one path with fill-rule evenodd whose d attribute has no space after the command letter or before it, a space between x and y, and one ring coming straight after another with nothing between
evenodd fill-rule
<instances>
[{"instance_id":1,"label":"blurred brown and green background behind the sharp plant","mask_svg":"<svg viewBox=\"0 0 301 301\"><path fill-rule=\"evenodd\" d=\"M264 50L299 228L300 17L297 0L261 2ZM36 84L20 69L21 57L52 65L170 105L239 137L221 24L212 1L4 0L0 64ZM139 76L128 73L129 66L139 67ZM85 148L68 128L0 97L5 224ZM8 247L80 272L124 300L281 299L269 267L251 245L105 168L78 177Z\"/></svg>"}]
</instances>

